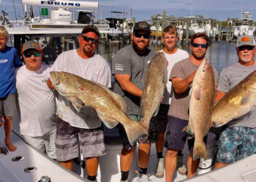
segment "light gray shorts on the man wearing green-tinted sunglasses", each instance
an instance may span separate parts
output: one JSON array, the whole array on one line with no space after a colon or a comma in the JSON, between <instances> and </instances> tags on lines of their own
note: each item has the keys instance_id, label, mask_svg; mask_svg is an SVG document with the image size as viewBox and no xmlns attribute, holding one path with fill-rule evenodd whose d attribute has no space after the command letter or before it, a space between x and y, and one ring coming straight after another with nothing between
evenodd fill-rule
<instances>
[{"instance_id":1,"label":"light gray shorts on the man wearing green-tinted sunglasses","mask_svg":"<svg viewBox=\"0 0 256 182\"><path fill-rule=\"evenodd\" d=\"M39 151L47 154L48 157L52 159L56 159L55 138L56 128L42 136L29 137L23 135L23 139L26 141L26 143L29 143L29 145L39 149Z\"/></svg>"}]
</instances>

